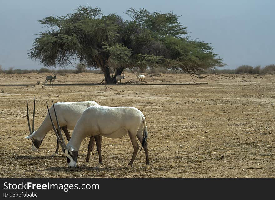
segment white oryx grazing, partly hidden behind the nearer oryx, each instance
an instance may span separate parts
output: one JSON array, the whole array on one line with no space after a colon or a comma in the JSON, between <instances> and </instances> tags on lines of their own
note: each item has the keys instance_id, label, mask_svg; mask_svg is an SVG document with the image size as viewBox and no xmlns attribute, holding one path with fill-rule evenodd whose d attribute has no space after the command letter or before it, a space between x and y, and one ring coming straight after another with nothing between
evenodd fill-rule
<instances>
[{"instance_id":1,"label":"white oryx grazing, partly hidden behind the nearer oryx","mask_svg":"<svg viewBox=\"0 0 275 200\"><path fill-rule=\"evenodd\" d=\"M70 130L74 129L78 119L80 118L80 116L82 115L85 109L87 109L90 106L99 105L99 104L95 101L83 101L83 102L58 102L58 103L55 103L54 105L55 105L57 116L59 119L59 125L64 131L67 140L69 141L71 137L68 129ZM30 135L27 136L26 138L32 140L32 151L38 151L38 148L40 147L44 137L49 131L53 129L53 126L52 126L52 123L49 117L49 112L48 112L42 124L39 126L39 128L36 131L34 131L34 113L35 113L35 98L34 98L34 106L33 106L32 131L30 126L28 101L27 101L27 118L28 118L27 120L28 120ZM50 108L50 113L52 115L54 114L53 106ZM54 124L55 125L57 124L55 120L54 120ZM95 144L95 140L93 137L91 137L88 145L88 155L84 165L88 165L90 152L93 151L94 144ZM57 140L56 151L53 154L53 156L56 156L58 154L58 148L59 148L59 141Z\"/></svg>"}]
</instances>

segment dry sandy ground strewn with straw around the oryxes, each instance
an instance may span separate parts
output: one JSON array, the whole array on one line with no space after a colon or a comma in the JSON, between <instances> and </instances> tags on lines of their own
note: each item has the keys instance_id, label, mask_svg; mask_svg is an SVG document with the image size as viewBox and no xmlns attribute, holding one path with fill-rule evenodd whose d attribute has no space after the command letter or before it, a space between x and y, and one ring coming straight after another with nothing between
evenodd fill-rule
<instances>
[{"instance_id":1,"label":"dry sandy ground strewn with straw around the oryxes","mask_svg":"<svg viewBox=\"0 0 275 200\"><path fill-rule=\"evenodd\" d=\"M196 79L208 84L173 85L193 79L185 74L146 74L147 85L105 86L81 85L101 82L103 74L57 74L53 88L37 85L46 75L0 74L0 177L275 177L274 75L212 74ZM122 82L137 80L136 74L125 75ZM97 155L91 155L88 167L82 166L88 140L81 144L76 169L67 167L63 155L51 156L56 147L53 131L39 151L32 152L25 139L26 100L32 115L34 96L36 129L46 116L46 101L94 100L137 107L148 126L150 169L144 168L144 151L133 169L125 169L133 153L128 136L103 138L99 170L93 169Z\"/></svg>"}]
</instances>

